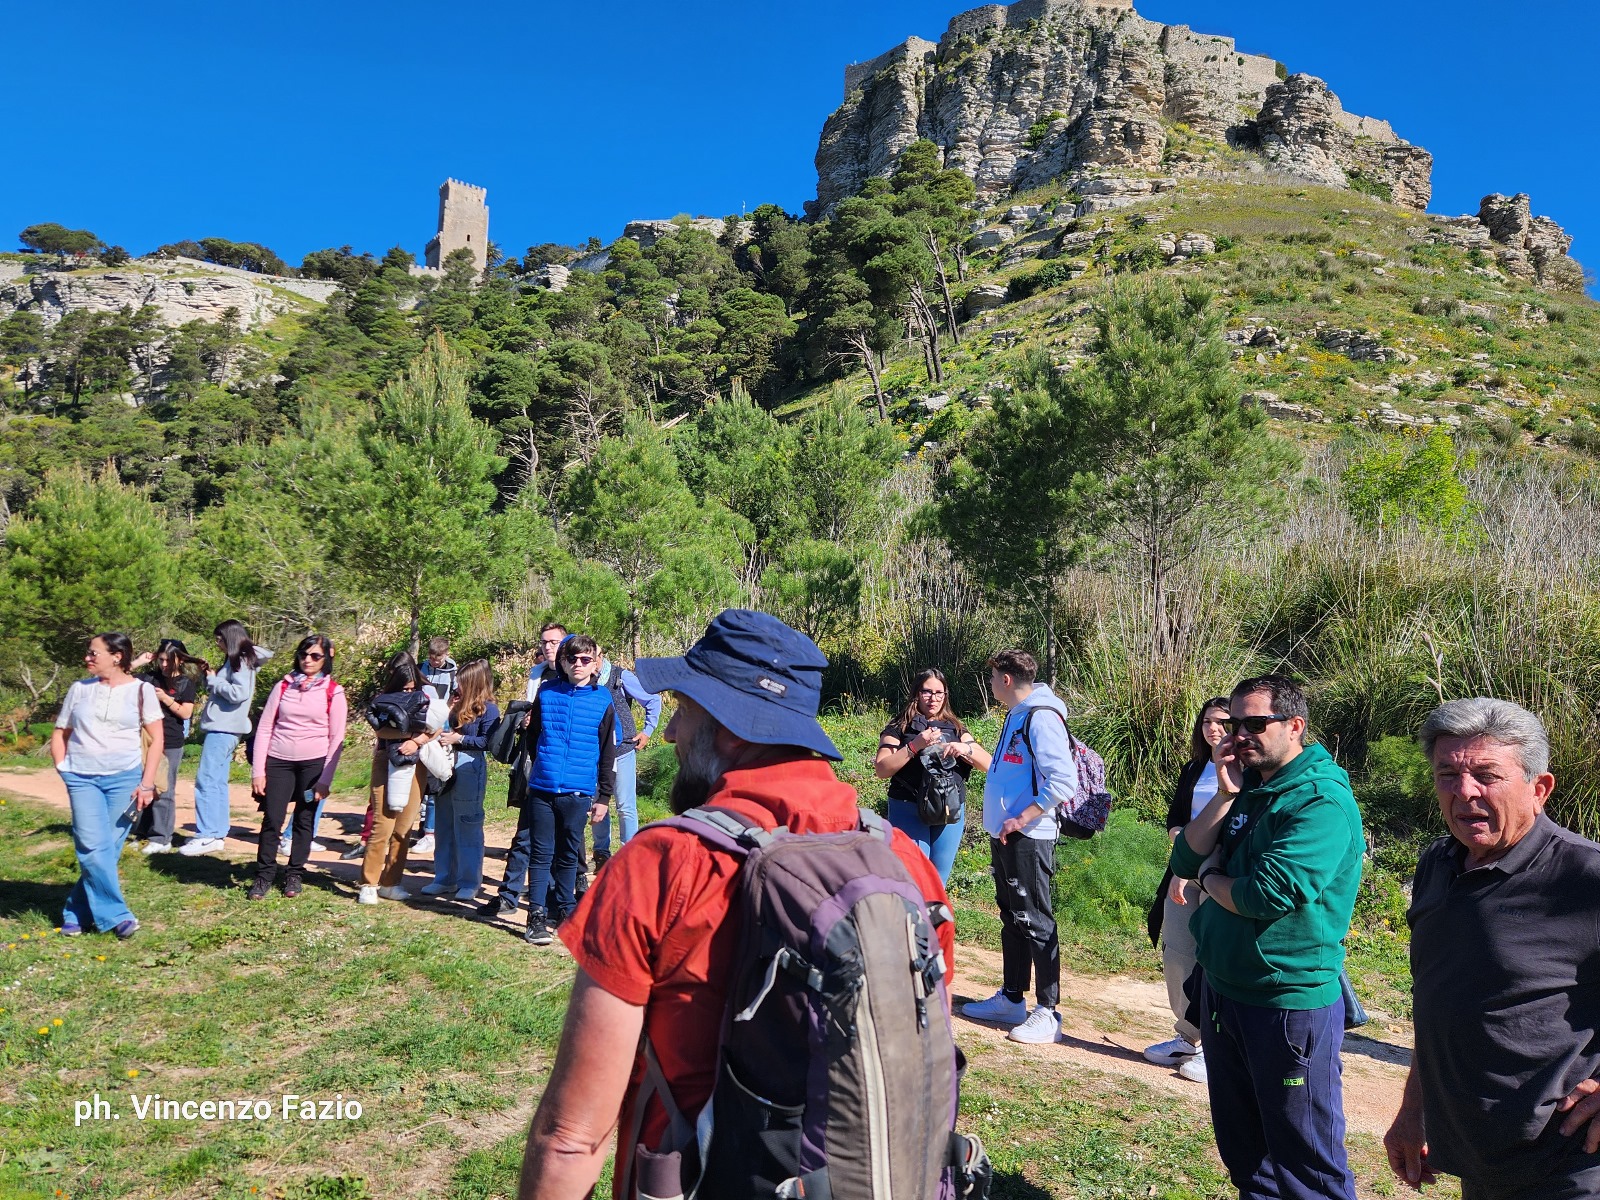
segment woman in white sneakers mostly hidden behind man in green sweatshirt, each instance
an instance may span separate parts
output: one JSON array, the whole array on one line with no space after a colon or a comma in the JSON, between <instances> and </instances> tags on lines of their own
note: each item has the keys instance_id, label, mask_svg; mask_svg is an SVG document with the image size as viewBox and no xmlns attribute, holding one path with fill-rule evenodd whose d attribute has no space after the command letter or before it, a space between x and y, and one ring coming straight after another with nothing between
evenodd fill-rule
<instances>
[{"instance_id":1,"label":"woman in white sneakers mostly hidden behind man in green sweatshirt","mask_svg":"<svg viewBox=\"0 0 1600 1200\"><path fill-rule=\"evenodd\" d=\"M1211 755L1226 736L1226 722L1227 696L1213 696L1200 706L1189 734L1189 762L1178 773L1173 803L1166 810L1170 842L1176 842L1184 826L1200 816L1216 795L1216 763ZM1195 971L1195 939L1189 931L1189 920L1203 901L1194 880L1178 878L1168 867L1146 920L1150 944L1162 947L1162 976L1166 979L1166 1005L1173 1010L1176 1037L1146 1046L1144 1058L1158 1067L1178 1067L1179 1075L1195 1083L1205 1083L1205 1051L1200 1048L1200 1027L1187 1016L1184 984Z\"/></svg>"}]
</instances>

